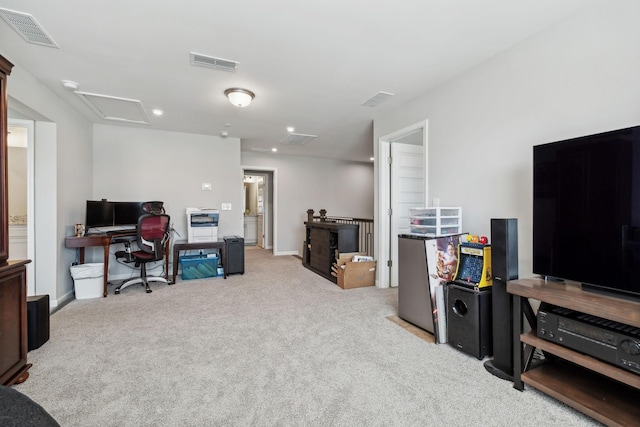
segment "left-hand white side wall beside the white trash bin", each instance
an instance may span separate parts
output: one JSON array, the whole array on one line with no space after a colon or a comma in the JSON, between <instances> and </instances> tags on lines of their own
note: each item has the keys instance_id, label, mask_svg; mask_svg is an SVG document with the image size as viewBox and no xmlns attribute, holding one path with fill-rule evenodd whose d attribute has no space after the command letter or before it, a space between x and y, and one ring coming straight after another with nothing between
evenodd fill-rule
<instances>
[{"instance_id":1,"label":"left-hand white side wall beside the white trash bin","mask_svg":"<svg viewBox=\"0 0 640 427\"><path fill-rule=\"evenodd\" d=\"M84 221L91 195L92 126L2 48L0 54L15 65L7 80L9 117L36 121L36 293L48 294L55 307L73 298L75 250L64 247L64 238Z\"/></svg>"}]
</instances>

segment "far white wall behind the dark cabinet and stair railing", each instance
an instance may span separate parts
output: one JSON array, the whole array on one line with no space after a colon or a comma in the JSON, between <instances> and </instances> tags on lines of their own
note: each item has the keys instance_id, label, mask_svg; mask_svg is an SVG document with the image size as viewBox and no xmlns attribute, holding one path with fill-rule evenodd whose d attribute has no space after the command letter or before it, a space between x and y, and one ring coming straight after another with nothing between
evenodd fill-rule
<instances>
[{"instance_id":1,"label":"far white wall behind the dark cabinet and stair railing","mask_svg":"<svg viewBox=\"0 0 640 427\"><path fill-rule=\"evenodd\" d=\"M301 254L307 209L319 215L373 218L373 165L342 160L242 152L242 165L277 169L277 248Z\"/></svg>"}]
</instances>

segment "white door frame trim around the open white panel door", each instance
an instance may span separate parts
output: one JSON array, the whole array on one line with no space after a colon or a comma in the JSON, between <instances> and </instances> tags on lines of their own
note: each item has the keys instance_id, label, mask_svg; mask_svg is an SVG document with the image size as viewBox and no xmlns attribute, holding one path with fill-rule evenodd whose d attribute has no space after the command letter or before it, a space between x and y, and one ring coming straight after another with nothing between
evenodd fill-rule
<instances>
[{"instance_id":1,"label":"white door frame trim around the open white panel door","mask_svg":"<svg viewBox=\"0 0 640 427\"><path fill-rule=\"evenodd\" d=\"M391 226L389 217L389 210L391 209L391 168L389 164L389 157L391 155L391 144L394 140L401 139L403 136L415 133L417 130L422 130L422 146L424 148L424 199L425 203L429 200L429 122L427 119L399 129L395 132L383 135L378 138L378 157L375 158L374 163L378 170L378 207L377 218L375 224L375 235L377 243L375 245L375 257L378 260L378 281L376 286L380 288L388 288L391 282L391 269L389 268L388 261L398 262L398 260L391 260Z\"/></svg>"}]
</instances>

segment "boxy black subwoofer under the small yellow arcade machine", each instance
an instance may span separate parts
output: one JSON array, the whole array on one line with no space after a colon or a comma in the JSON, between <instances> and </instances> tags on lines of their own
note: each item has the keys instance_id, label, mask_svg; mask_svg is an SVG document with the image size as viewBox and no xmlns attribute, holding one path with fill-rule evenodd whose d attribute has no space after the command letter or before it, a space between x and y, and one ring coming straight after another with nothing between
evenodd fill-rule
<instances>
[{"instance_id":1,"label":"boxy black subwoofer under the small yellow arcade machine","mask_svg":"<svg viewBox=\"0 0 640 427\"><path fill-rule=\"evenodd\" d=\"M448 342L478 359L491 355L491 289L447 287Z\"/></svg>"}]
</instances>

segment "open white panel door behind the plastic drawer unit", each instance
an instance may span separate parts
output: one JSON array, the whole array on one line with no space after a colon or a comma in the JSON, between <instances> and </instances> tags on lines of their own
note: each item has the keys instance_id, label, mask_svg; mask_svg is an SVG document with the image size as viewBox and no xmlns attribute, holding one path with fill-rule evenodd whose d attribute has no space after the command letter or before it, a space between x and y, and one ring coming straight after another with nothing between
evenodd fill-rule
<instances>
[{"instance_id":1,"label":"open white panel door behind the plastic drawer unit","mask_svg":"<svg viewBox=\"0 0 640 427\"><path fill-rule=\"evenodd\" d=\"M424 148L391 143L390 285L398 286L398 234L409 232L409 209L425 206Z\"/></svg>"}]
</instances>

